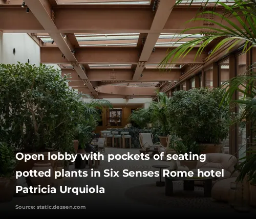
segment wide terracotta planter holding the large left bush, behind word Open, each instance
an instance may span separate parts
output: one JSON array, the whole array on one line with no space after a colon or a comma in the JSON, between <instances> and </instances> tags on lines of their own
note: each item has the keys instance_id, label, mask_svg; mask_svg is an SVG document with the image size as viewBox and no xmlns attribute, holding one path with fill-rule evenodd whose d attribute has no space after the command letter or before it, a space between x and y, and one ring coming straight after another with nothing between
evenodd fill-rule
<instances>
[{"instance_id":1,"label":"wide terracotta planter holding the large left bush, behind word Open","mask_svg":"<svg viewBox=\"0 0 256 219\"><path fill-rule=\"evenodd\" d=\"M57 151L50 152L51 154L57 154ZM44 160L28 160L27 162L24 162L24 160L20 160L17 164L17 167L15 171L30 171L35 163L38 162L49 162L51 163L51 166L53 168L53 171L55 171L58 160L48 160L48 152L36 152L36 153L24 153L24 154L43 154Z\"/></svg>"}]
</instances>

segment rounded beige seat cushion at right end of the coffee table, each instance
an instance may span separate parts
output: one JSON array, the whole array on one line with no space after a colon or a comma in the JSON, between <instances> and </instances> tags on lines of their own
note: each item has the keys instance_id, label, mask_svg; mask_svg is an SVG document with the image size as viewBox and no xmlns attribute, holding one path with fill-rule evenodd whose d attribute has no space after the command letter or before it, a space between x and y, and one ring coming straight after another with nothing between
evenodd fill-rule
<instances>
[{"instance_id":1,"label":"rounded beige seat cushion at right end of the coffee table","mask_svg":"<svg viewBox=\"0 0 256 219\"><path fill-rule=\"evenodd\" d=\"M217 201L228 202L230 183L236 182L236 177L217 181L211 189L211 197Z\"/></svg>"}]
</instances>

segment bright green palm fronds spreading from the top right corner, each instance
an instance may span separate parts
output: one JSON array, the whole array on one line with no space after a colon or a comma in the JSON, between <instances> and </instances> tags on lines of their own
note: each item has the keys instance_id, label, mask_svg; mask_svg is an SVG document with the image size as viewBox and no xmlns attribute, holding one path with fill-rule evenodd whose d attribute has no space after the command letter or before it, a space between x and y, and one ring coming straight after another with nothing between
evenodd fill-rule
<instances>
[{"instance_id":1,"label":"bright green palm fronds spreading from the top right corner","mask_svg":"<svg viewBox=\"0 0 256 219\"><path fill-rule=\"evenodd\" d=\"M208 1L206 1L207 3ZM176 4L180 4L179 0ZM190 4L193 3L193 0ZM187 28L179 34L186 34L186 32L195 32L194 34L187 34L185 37L180 38L175 44L179 44L184 41L184 38L195 37L198 34L203 34L202 37L196 37L193 40L190 40L168 52L167 56L161 62L161 66L165 68L170 63L173 63L179 58L185 57L190 50L197 48L198 52L195 56L195 59L200 56L204 51L206 46L212 41L218 41L217 45L211 51L211 54L208 56L211 57L214 55L221 46L226 43L230 43L227 48L227 52L232 48L236 47L239 43L245 43L243 51L247 52L252 46L256 44L256 1L255 0L234 0L232 5L228 3L222 3L219 0L215 2L217 5L221 5L224 10L220 13L214 10L209 11L208 7L202 7L202 10L198 15L189 20L188 22L212 22L214 27L205 26L205 27L192 27ZM210 19L210 16L214 16L218 19ZM224 25L226 23L227 25ZM239 23L239 25L237 25ZM218 28L216 28L218 27ZM197 32L200 30L200 32ZM179 34L174 36L176 38Z\"/></svg>"}]
</instances>

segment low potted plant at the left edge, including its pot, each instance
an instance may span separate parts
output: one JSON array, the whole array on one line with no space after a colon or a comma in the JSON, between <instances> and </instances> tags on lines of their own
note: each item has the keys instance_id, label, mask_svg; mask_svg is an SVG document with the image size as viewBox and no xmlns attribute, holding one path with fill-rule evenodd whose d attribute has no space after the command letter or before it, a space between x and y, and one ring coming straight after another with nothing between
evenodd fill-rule
<instances>
[{"instance_id":1,"label":"low potted plant at the left edge, including its pot","mask_svg":"<svg viewBox=\"0 0 256 219\"><path fill-rule=\"evenodd\" d=\"M0 142L0 202L11 201L14 196L16 163L13 148Z\"/></svg>"}]
</instances>

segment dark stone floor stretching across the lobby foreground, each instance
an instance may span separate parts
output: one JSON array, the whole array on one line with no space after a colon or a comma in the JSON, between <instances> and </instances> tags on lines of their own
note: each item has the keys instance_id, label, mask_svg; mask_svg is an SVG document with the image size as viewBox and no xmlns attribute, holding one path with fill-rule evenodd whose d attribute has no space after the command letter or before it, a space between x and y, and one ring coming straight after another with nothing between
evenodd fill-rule
<instances>
[{"instance_id":1,"label":"dark stone floor stretching across the lobby foreground","mask_svg":"<svg viewBox=\"0 0 256 219\"><path fill-rule=\"evenodd\" d=\"M126 154L127 152L139 154L137 149L113 149L106 148L103 154ZM169 165L172 168L173 163L161 160L115 160L101 162L99 169L101 173L104 169L113 168L114 171L122 172L123 169L129 171L155 171L152 165ZM74 168L71 166L71 169ZM88 166L87 166L88 168ZM90 169L84 169L90 172ZM217 203L210 198L201 197L202 188L196 188L195 194L178 194L177 197L165 197L164 187L156 187L155 182L159 178L150 177L84 177L84 178L66 178L62 180L63 185L71 187L104 187L105 193L87 193L76 194L57 193L47 195L31 194L27 197L15 197L11 202L0 204L0 212L9 212L13 214L31 215L73 215L74 212L84 212L86 208L87 215L159 215L164 214L183 215L207 213L227 213L234 211L227 204ZM182 188L181 182L177 182L177 189ZM182 190L182 189L181 189ZM198 193L197 193L198 192ZM32 210L29 208L33 208ZM52 209L59 209L54 210ZM45 210L38 210L45 209ZM75 210L76 209L76 210ZM125 213L124 213L125 212Z\"/></svg>"}]
</instances>

